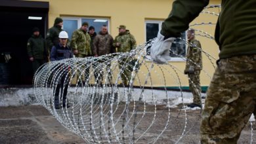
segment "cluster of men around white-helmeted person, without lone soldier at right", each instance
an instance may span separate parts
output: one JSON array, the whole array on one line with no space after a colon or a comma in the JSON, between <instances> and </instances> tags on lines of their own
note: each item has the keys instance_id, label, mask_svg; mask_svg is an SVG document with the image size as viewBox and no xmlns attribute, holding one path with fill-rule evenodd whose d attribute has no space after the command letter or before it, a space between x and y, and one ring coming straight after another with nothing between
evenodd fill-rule
<instances>
[{"instance_id":1,"label":"cluster of men around white-helmeted person, without lone soldier at right","mask_svg":"<svg viewBox=\"0 0 256 144\"><path fill-rule=\"evenodd\" d=\"M46 39L39 33L39 29L33 29L33 35L28 40L27 50L30 61L33 65L33 71L37 71L41 65L49 61L64 60L66 58L87 58L90 56L98 57L108 55L116 52L129 52L136 47L136 40L133 35L126 29L126 26L120 25L118 27L119 34L115 39L108 33L108 26L103 25L98 34L95 33L95 27L90 26L87 22L83 22L81 27L72 33L71 41L68 41L68 33L62 29L62 18L54 20L54 26L47 31ZM88 31L89 27L89 31ZM104 58L106 58L105 56ZM123 67L123 60L119 62L119 68ZM100 59L97 63L103 63L104 59ZM83 75L81 84L89 81L89 71L91 63L85 63L85 67L79 75ZM111 62L106 65L106 69L110 69ZM93 64L94 76L96 84L102 84L103 73L102 70L97 70L98 65ZM67 71L61 73L65 75ZM112 84L111 73L108 73L108 82ZM77 77L77 79L79 79ZM124 86L127 86L131 79L131 71L123 69L121 79ZM78 81L78 80L77 80ZM66 101L68 91L68 84L65 83L65 77L61 77L54 87L54 107L60 109L61 107L70 107ZM61 99L60 99L61 98Z\"/></svg>"}]
</instances>

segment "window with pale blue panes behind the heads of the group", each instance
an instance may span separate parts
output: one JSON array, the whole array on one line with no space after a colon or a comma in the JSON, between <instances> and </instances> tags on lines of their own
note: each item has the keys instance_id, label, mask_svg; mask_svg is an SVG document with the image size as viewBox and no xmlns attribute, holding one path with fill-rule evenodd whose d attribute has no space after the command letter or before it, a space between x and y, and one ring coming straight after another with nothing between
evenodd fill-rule
<instances>
[{"instance_id":1,"label":"window with pale blue panes behind the heads of the group","mask_svg":"<svg viewBox=\"0 0 256 144\"><path fill-rule=\"evenodd\" d=\"M101 30L102 25L109 25L107 18L68 18L63 17L63 29L68 32L69 39L72 37L72 33L81 27L83 22L88 22L89 26L95 27L95 32L98 33ZM108 27L109 30L109 27Z\"/></svg>"}]
</instances>

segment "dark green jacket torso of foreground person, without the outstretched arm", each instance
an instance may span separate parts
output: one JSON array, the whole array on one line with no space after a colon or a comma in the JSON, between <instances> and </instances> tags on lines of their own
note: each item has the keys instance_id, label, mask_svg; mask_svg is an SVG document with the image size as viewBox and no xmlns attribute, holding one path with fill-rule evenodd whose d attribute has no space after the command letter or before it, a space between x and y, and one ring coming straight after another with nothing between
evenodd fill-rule
<instances>
[{"instance_id":1,"label":"dark green jacket torso of foreground person, without the outstretched arm","mask_svg":"<svg viewBox=\"0 0 256 144\"><path fill-rule=\"evenodd\" d=\"M221 6L215 31L220 58L256 54L256 1L222 1Z\"/></svg>"}]
</instances>

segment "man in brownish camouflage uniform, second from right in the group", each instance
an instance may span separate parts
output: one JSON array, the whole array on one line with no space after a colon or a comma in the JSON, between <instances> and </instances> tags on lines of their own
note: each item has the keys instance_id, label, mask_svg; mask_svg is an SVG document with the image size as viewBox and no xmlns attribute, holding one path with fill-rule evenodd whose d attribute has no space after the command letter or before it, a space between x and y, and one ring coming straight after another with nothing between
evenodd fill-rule
<instances>
[{"instance_id":1,"label":"man in brownish camouflage uniform, second from right in the group","mask_svg":"<svg viewBox=\"0 0 256 144\"><path fill-rule=\"evenodd\" d=\"M106 25L103 25L101 27L101 31L98 33L98 35L96 35L95 40L93 41L93 55L95 57L98 57L116 52L116 48L114 48L113 46L113 41L113 37L108 34L108 27ZM99 71L102 70L102 68L99 69L99 64L108 61L109 63L106 65L106 69L110 70L111 61L109 60L110 57L105 57L104 59L98 60L96 62L96 65L93 65L95 69L98 69L98 71L95 71L95 80L97 83L102 83L103 78L103 71ZM112 84L111 70L108 72L108 82Z\"/></svg>"}]
</instances>

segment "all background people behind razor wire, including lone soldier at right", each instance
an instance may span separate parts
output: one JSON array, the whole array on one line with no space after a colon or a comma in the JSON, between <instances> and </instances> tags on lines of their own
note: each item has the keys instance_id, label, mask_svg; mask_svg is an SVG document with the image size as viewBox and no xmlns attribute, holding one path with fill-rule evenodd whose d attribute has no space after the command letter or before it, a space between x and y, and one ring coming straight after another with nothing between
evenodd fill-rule
<instances>
[{"instance_id":1,"label":"all background people behind razor wire, including lone soldier at right","mask_svg":"<svg viewBox=\"0 0 256 144\"><path fill-rule=\"evenodd\" d=\"M89 56L103 56L115 52L129 52L134 49L137 44L135 37L131 35L126 26L120 25L118 27L119 34L113 39L112 35L108 33L108 26L103 25L98 34L95 32L95 27L90 26L87 22L83 22L81 27L72 33L71 41L68 42L68 33L63 31L62 18L54 20L54 26L47 31L46 40L39 34L39 29L33 29L33 35L28 40L28 56L33 63L33 71L43 65L43 63L54 60L62 60L65 58L86 58ZM89 28L89 29L88 29ZM188 45L187 62L184 74L188 75L189 87L193 94L193 103L188 107L202 107L201 103L201 86L200 86L200 71L202 70L202 54L200 42L194 37L194 29L188 30ZM66 49L61 48L65 45ZM66 55L65 55L66 54ZM73 55L74 54L74 55ZM98 63L103 63L106 60L102 58L93 63L95 69L94 76L97 84L102 84L102 71L97 71ZM123 58L119 62L119 68L123 67L129 58ZM90 63L87 63L90 65ZM106 65L106 69L110 69L111 63ZM85 66L83 73L83 84L89 79L90 66ZM81 73L79 73L81 74ZM77 78L78 79L78 78ZM131 69L122 69L121 79L124 85L129 84L131 79ZM108 82L112 84L111 73L108 73ZM64 88L66 89L66 88ZM64 90L66 92L66 90ZM58 95L58 91L57 91ZM64 94L66 95L66 94Z\"/></svg>"}]
</instances>

